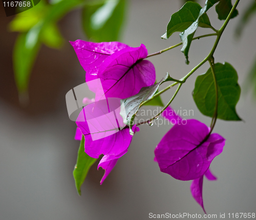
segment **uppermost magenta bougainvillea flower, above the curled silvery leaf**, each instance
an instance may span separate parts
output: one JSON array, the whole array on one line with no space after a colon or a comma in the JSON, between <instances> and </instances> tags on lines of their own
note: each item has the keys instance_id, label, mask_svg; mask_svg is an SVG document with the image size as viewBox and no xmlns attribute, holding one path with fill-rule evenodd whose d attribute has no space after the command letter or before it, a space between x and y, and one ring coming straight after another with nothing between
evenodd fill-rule
<instances>
[{"instance_id":1,"label":"uppermost magenta bougainvillea flower, above the curled silvery leaf","mask_svg":"<svg viewBox=\"0 0 256 220\"><path fill-rule=\"evenodd\" d=\"M147 57L143 44L130 47L119 42L76 40L70 43L86 70L86 82L101 79L105 97L125 99L155 83L155 67L150 61L143 60ZM96 88L89 88L96 92Z\"/></svg>"}]
</instances>

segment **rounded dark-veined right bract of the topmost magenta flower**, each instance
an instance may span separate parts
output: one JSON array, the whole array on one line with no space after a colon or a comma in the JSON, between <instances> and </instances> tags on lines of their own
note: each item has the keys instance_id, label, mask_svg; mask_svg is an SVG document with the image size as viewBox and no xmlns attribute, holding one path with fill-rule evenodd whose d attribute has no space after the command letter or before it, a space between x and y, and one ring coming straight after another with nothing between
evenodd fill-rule
<instances>
[{"instance_id":1,"label":"rounded dark-veined right bract of the topmost magenta flower","mask_svg":"<svg viewBox=\"0 0 256 220\"><path fill-rule=\"evenodd\" d=\"M146 47L126 47L104 60L98 71L106 97L126 99L156 81L154 65L143 60Z\"/></svg>"}]
</instances>

